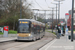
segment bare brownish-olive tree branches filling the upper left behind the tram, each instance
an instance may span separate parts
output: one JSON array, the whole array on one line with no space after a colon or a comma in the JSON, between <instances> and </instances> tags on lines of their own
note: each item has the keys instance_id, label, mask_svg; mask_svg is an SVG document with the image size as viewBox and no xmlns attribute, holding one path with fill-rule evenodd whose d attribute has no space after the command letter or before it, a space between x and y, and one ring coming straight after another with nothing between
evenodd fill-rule
<instances>
[{"instance_id":1,"label":"bare brownish-olive tree branches filling the upper left behind the tram","mask_svg":"<svg viewBox=\"0 0 75 50\"><path fill-rule=\"evenodd\" d=\"M20 0L0 0L0 3L0 7L3 9L0 23L2 23L2 25L9 25L12 29L20 18ZM28 3L27 0L22 0L22 18L31 17L30 6L31 4Z\"/></svg>"}]
</instances>

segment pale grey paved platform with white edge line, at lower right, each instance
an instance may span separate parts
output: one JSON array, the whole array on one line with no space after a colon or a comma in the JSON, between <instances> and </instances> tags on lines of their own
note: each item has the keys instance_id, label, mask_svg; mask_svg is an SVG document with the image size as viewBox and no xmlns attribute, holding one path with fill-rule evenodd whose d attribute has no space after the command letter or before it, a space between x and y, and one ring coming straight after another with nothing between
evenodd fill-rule
<instances>
[{"instance_id":1,"label":"pale grey paved platform with white edge line, at lower right","mask_svg":"<svg viewBox=\"0 0 75 50\"><path fill-rule=\"evenodd\" d=\"M71 42L63 36L60 39L54 39L39 50L75 50L75 41Z\"/></svg>"}]
</instances>

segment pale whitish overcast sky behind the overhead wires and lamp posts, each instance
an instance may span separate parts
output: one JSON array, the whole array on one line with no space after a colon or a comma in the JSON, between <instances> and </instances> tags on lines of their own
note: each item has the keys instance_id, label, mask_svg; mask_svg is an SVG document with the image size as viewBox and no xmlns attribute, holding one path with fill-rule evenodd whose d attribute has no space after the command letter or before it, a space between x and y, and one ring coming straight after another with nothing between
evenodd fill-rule
<instances>
[{"instance_id":1,"label":"pale whitish overcast sky behind the overhead wires and lamp posts","mask_svg":"<svg viewBox=\"0 0 75 50\"><path fill-rule=\"evenodd\" d=\"M49 7L56 7L56 5L51 4L51 2L58 3L57 1L54 1L54 0L28 0L28 1L32 2L32 9L40 9L40 10L52 10ZM72 9L72 0L64 0L64 1L61 1L61 3L62 4L60 4L60 18L65 18L65 13L68 13L69 10ZM54 10L55 9L56 8L54 8ZM49 12L47 11L46 14L49 14ZM55 14L55 11L54 11L54 14ZM50 17L51 16L47 16L46 18L50 18ZM55 15L54 15L54 18L55 18Z\"/></svg>"}]
</instances>

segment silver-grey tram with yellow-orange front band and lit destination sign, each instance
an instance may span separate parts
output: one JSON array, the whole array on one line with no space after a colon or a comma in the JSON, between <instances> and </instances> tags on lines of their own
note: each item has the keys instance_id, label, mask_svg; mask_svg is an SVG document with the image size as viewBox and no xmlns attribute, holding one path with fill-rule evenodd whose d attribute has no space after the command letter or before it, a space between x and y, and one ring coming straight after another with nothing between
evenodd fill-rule
<instances>
[{"instance_id":1,"label":"silver-grey tram with yellow-orange front band and lit destination sign","mask_svg":"<svg viewBox=\"0 0 75 50\"><path fill-rule=\"evenodd\" d=\"M45 35L45 24L32 19L18 20L17 40L37 40Z\"/></svg>"}]
</instances>

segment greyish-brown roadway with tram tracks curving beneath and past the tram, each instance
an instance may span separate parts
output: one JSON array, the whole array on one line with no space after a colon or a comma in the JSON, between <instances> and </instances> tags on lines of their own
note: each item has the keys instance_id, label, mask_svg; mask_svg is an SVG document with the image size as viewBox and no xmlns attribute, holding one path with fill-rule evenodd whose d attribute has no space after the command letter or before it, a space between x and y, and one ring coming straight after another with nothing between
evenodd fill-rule
<instances>
[{"instance_id":1,"label":"greyish-brown roadway with tram tracks curving beneath and past the tram","mask_svg":"<svg viewBox=\"0 0 75 50\"><path fill-rule=\"evenodd\" d=\"M45 33L45 36L37 40L35 42L33 41L10 41L10 42L4 42L0 43L0 50L39 50L41 47L43 47L48 42L52 41L55 38L55 35L52 33Z\"/></svg>"}]
</instances>

